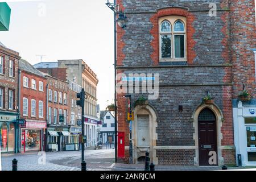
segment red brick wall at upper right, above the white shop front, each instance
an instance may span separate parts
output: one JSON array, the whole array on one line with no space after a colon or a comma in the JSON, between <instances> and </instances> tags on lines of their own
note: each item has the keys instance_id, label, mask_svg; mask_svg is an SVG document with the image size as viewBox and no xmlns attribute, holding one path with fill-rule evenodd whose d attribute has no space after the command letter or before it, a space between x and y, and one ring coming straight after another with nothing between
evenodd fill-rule
<instances>
[{"instance_id":1,"label":"red brick wall at upper right, above the white shop front","mask_svg":"<svg viewBox=\"0 0 256 182\"><path fill-rule=\"evenodd\" d=\"M233 63L233 98L245 84L246 90L255 98L254 53L256 48L255 6L251 0L230 1L232 63Z\"/></svg>"}]
</instances>

